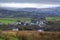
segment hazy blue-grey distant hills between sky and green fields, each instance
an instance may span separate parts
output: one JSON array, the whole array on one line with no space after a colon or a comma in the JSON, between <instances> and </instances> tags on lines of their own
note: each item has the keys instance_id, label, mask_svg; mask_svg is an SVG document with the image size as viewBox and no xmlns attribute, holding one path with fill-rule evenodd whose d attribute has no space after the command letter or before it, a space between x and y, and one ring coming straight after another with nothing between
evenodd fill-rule
<instances>
[{"instance_id":1,"label":"hazy blue-grey distant hills between sky and green fields","mask_svg":"<svg viewBox=\"0 0 60 40\"><path fill-rule=\"evenodd\" d=\"M0 17L2 18L19 18L19 17L30 17L30 18L41 18L45 16L60 16L60 7L56 8L0 8Z\"/></svg>"}]
</instances>

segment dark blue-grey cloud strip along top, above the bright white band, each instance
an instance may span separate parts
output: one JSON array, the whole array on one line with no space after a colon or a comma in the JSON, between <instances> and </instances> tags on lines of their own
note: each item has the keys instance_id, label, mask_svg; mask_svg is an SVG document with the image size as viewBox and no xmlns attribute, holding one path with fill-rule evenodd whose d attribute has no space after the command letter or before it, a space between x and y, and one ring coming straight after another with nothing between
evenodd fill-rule
<instances>
[{"instance_id":1,"label":"dark blue-grey cloud strip along top, above the bright white band","mask_svg":"<svg viewBox=\"0 0 60 40\"><path fill-rule=\"evenodd\" d=\"M60 0L0 0L0 2L60 4Z\"/></svg>"}]
</instances>

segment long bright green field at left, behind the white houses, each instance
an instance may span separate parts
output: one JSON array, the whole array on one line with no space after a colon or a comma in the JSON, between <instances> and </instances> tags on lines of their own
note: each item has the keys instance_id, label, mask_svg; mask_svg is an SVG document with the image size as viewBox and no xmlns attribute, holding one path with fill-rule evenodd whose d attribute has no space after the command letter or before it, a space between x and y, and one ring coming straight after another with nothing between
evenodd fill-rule
<instances>
[{"instance_id":1,"label":"long bright green field at left, behind the white houses","mask_svg":"<svg viewBox=\"0 0 60 40\"><path fill-rule=\"evenodd\" d=\"M11 24L20 20L21 22L31 22L31 18L0 18L0 22L4 24Z\"/></svg>"}]
</instances>

